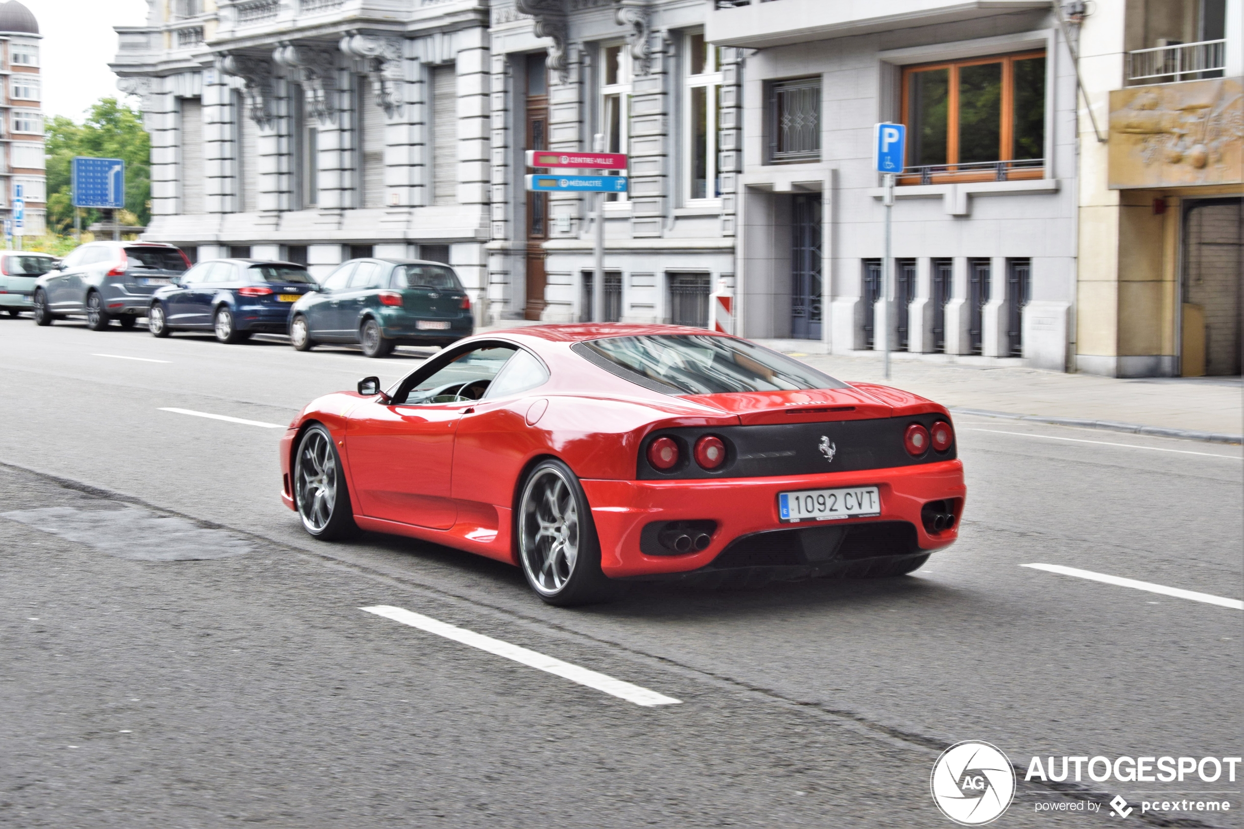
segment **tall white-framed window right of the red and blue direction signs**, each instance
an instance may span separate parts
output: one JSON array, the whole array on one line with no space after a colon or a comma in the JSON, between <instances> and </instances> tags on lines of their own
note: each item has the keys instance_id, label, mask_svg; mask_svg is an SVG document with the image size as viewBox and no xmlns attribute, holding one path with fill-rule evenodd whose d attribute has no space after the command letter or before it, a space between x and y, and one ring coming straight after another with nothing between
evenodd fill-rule
<instances>
[{"instance_id":1,"label":"tall white-framed window right of the red and blue direction signs","mask_svg":"<svg viewBox=\"0 0 1244 829\"><path fill-rule=\"evenodd\" d=\"M717 135L722 123L722 50L704 35L687 36L687 198L722 195L717 175Z\"/></svg>"}]
</instances>

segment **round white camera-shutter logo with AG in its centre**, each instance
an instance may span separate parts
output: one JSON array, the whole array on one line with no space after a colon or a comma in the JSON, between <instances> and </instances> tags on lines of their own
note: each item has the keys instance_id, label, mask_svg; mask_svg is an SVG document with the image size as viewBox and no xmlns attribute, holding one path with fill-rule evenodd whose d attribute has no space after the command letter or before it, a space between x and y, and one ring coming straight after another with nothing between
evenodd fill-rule
<instances>
[{"instance_id":1,"label":"round white camera-shutter logo with AG in its centre","mask_svg":"<svg viewBox=\"0 0 1244 829\"><path fill-rule=\"evenodd\" d=\"M962 827L979 827L1010 807L1015 769L996 746L967 740L937 758L929 788L942 814Z\"/></svg>"}]
</instances>

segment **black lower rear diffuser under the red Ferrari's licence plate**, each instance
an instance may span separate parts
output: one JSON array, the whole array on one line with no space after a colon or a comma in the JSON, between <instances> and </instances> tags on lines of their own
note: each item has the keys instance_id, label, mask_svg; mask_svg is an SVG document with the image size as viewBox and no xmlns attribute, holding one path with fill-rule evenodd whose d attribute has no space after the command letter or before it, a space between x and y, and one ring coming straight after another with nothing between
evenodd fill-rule
<instances>
[{"instance_id":1,"label":"black lower rear diffuser under the red Ferrari's licence plate","mask_svg":"<svg viewBox=\"0 0 1244 829\"><path fill-rule=\"evenodd\" d=\"M825 563L829 558L851 561L883 556L911 556L919 552L916 527L906 521L873 521L846 524L837 554L825 556L831 527L794 527L758 532L734 539L722 554L708 566L710 569L735 567L799 567ZM805 552L806 551L806 552Z\"/></svg>"}]
</instances>

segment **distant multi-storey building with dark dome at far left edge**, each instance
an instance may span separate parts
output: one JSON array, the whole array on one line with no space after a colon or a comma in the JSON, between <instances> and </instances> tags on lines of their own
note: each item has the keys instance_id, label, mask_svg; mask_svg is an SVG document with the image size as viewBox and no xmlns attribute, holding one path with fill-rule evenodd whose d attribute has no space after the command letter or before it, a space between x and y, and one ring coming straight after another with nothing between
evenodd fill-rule
<instances>
[{"instance_id":1,"label":"distant multi-storey building with dark dome at far left edge","mask_svg":"<svg viewBox=\"0 0 1244 829\"><path fill-rule=\"evenodd\" d=\"M0 77L4 80L0 144L0 214L12 219L12 199L21 185L26 203L25 231L40 235L46 226L47 180L44 160L42 89L40 86L39 21L26 6L0 4Z\"/></svg>"}]
</instances>

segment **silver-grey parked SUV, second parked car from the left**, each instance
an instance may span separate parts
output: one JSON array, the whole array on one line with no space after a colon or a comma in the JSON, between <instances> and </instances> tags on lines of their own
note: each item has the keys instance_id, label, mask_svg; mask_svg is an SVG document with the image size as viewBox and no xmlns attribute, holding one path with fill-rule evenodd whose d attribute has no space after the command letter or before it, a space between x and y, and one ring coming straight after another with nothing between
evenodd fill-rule
<instances>
[{"instance_id":1,"label":"silver-grey parked SUV, second parked car from the left","mask_svg":"<svg viewBox=\"0 0 1244 829\"><path fill-rule=\"evenodd\" d=\"M35 324L85 314L91 331L103 331L112 319L133 328L138 317L147 316L156 288L172 285L188 267L189 260L173 245L82 245L35 282Z\"/></svg>"}]
</instances>

